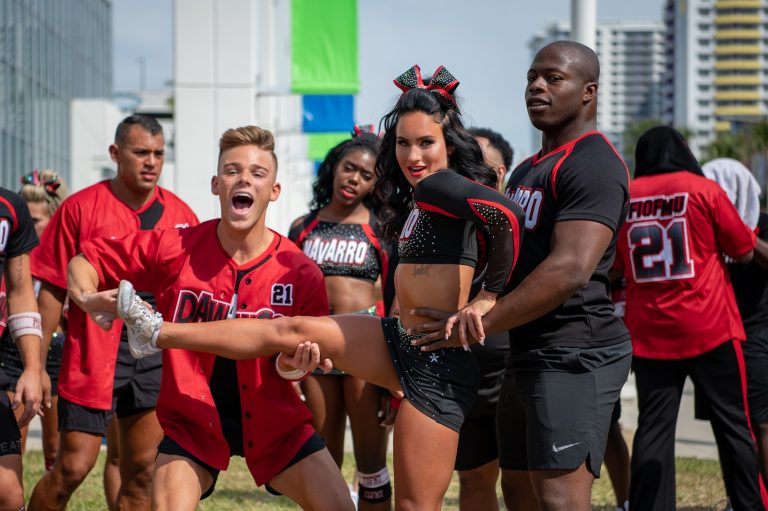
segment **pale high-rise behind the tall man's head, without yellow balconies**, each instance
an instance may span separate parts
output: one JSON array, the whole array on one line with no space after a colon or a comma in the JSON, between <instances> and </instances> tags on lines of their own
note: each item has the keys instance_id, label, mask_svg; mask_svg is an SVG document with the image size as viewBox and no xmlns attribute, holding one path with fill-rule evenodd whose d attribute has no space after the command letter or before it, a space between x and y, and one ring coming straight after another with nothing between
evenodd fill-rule
<instances>
[{"instance_id":1,"label":"pale high-rise behind the tall man's head, without yellow balconies","mask_svg":"<svg viewBox=\"0 0 768 511\"><path fill-rule=\"evenodd\" d=\"M570 26L550 25L531 39L534 54L542 46L570 38ZM596 48L600 58L597 124L617 149L624 130L641 119L660 119L661 85L665 70L664 25L655 21L606 21L598 24Z\"/></svg>"}]
</instances>

